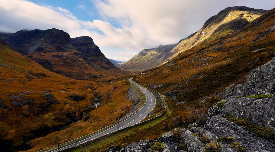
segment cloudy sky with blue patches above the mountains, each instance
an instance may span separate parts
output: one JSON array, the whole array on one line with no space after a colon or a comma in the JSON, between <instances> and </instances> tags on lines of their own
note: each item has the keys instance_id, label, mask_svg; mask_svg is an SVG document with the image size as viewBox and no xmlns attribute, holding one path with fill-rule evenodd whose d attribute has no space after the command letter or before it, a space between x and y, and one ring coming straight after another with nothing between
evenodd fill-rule
<instances>
[{"instance_id":1,"label":"cloudy sky with blue patches above the mountains","mask_svg":"<svg viewBox=\"0 0 275 152\"><path fill-rule=\"evenodd\" d=\"M0 31L57 28L90 36L110 59L175 44L231 6L270 10L274 0L0 0Z\"/></svg>"}]
</instances>

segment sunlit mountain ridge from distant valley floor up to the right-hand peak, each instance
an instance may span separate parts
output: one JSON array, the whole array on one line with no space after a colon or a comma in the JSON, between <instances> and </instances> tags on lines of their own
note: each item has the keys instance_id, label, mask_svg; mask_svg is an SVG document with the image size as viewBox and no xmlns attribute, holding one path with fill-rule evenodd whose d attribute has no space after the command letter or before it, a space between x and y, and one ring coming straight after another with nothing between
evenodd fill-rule
<instances>
[{"instance_id":1,"label":"sunlit mountain ridge from distant valley floor up to the right-hand peak","mask_svg":"<svg viewBox=\"0 0 275 152\"><path fill-rule=\"evenodd\" d=\"M145 70L158 67L181 52L201 44L207 38L216 38L215 34L232 34L266 12L262 9L245 6L227 7L217 15L210 17L198 32L180 40L178 44L142 50L132 59L121 65L120 68Z\"/></svg>"}]
</instances>

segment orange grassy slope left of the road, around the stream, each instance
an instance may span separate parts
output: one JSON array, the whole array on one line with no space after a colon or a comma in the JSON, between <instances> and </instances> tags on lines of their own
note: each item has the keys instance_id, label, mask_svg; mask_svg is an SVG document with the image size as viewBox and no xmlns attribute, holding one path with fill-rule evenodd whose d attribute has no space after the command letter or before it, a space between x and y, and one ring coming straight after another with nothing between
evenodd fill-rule
<instances>
[{"instance_id":1,"label":"orange grassy slope left of the road, around the stream","mask_svg":"<svg viewBox=\"0 0 275 152\"><path fill-rule=\"evenodd\" d=\"M121 78L122 81L110 83L74 80L48 71L26 56L12 50L2 40L0 40L0 50L0 86L2 87L0 98L1 104L9 107L0 106L0 140L6 141L6 144L15 149L23 148L22 146L27 141L33 147L30 151L50 147L54 145L53 137L57 133L61 135L62 142L68 140L68 137L73 139L91 133L122 118L131 108L132 103L125 98L129 88L127 76ZM87 85L92 89L89 90ZM23 93L25 91L31 92ZM42 97L45 92L41 91L49 91L60 104L48 104L48 101ZM71 92L84 94L85 99L80 102L72 101L69 98ZM110 97L107 97L107 94ZM95 95L101 100L101 105L91 110ZM23 106L12 104L11 101L20 102L20 100L12 100L11 96L21 96L23 100L32 100L27 104L29 105L28 115L24 114ZM65 114L68 105L71 111ZM83 112L88 113L91 118L85 122L70 124L72 121L81 120ZM38 122L47 113L54 114L53 128L40 129ZM65 127L67 124L70 125ZM64 129L63 126L65 130L53 132ZM8 133L9 130L15 130L15 134ZM34 139L41 135L47 136ZM6 146L5 143L2 148L4 146Z\"/></svg>"}]
</instances>

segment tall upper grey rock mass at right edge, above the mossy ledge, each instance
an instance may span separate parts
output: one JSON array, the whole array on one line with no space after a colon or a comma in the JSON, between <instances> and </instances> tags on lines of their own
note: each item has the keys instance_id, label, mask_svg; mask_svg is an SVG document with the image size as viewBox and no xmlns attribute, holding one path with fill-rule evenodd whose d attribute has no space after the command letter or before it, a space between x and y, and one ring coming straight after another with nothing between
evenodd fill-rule
<instances>
[{"instance_id":1,"label":"tall upper grey rock mass at right edge, above the mossy ledge","mask_svg":"<svg viewBox=\"0 0 275 152\"><path fill-rule=\"evenodd\" d=\"M275 97L271 95L275 93L274 70L275 58L254 69L244 84L231 85L225 89L222 98L226 99L226 103L221 107L222 110L217 111L217 108L212 107L211 111L208 110L208 115L213 115L215 109L216 114L245 118L255 125L275 130Z\"/></svg>"}]
</instances>

